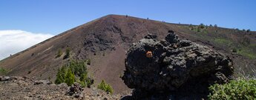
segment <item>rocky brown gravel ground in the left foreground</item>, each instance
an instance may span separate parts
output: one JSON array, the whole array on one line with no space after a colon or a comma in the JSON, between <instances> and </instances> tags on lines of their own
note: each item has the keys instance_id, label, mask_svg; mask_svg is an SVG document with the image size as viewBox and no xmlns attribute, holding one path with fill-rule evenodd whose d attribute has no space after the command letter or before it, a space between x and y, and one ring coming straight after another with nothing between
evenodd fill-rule
<instances>
[{"instance_id":1,"label":"rocky brown gravel ground in the left foreground","mask_svg":"<svg viewBox=\"0 0 256 100\"><path fill-rule=\"evenodd\" d=\"M19 76L0 76L0 100L117 100L126 94L111 95L96 88L83 88L78 96L68 95L67 84L53 84L48 80L36 80L33 78Z\"/></svg>"}]
</instances>

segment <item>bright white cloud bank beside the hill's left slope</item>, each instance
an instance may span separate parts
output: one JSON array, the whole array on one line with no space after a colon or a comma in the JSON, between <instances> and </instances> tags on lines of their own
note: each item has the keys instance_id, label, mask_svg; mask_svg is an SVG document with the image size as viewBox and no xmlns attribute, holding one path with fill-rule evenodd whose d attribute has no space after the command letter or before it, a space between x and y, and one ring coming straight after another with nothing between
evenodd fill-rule
<instances>
[{"instance_id":1,"label":"bright white cloud bank beside the hill's left slope","mask_svg":"<svg viewBox=\"0 0 256 100\"><path fill-rule=\"evenodd\" d=\"M0 30L0 60L49 39L53 35L24 30Z\"/></svg>"}]
</instances>

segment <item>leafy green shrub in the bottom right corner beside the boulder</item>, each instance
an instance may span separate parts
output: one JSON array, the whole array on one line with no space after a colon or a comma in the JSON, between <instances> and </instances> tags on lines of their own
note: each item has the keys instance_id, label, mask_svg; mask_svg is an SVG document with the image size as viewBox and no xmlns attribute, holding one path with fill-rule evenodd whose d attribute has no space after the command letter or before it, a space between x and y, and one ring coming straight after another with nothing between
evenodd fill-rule
<instances>
[{"instance_id":1,"label":"leafy green shrub in the bottom right corner beside the boulder","mask_svg":"<svg viewBox=\"0 0 256 100\"><path fill-rule=\"evenodd\" d=\"M209 87L209 99L253 100L256 99L256 80L240 79L227 84L214 84Z\"/></svg>"}]
</instances>

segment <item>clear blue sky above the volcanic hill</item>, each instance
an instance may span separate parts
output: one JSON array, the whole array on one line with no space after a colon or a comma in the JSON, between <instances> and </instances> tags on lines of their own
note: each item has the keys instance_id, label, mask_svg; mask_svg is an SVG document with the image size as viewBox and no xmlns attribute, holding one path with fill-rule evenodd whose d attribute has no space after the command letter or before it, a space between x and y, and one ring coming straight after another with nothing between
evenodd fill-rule
<instances>
[{"instance_id":1,"label":"clear blue sky above the volcanic hill","mask_svg":"<svg viewBox=\"0 0 256 100\"><path fill-rule=\"evenodd\" d=\"M255 0L2 0L0 30L56 35L108 14L256 30Z\"/></svg>"}]
</instances>

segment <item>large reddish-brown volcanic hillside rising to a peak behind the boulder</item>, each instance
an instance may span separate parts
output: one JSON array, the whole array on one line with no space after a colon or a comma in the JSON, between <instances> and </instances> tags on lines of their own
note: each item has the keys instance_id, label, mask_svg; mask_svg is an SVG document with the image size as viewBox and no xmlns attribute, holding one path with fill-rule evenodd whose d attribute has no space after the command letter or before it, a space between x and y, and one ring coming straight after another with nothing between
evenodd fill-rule
<instances>
[{"instance_id":1,"label":"large reddish-brown volcanic hillside rising to a peak behind the boulder","mask_svg":"<svg viewBox=\"0 0 256 100\"><path fill-rule=\"evenodd\" d=\"M256 53L256 33L253 31L207 27L198 33L190 30L188 24L108 15L1 60L0 67L10 70L7 76L35 76L36 79L54 81L59 67L70 60L62 59L65 53L56 58L56 53L59 49L65 52L66 48L70 48L73 59L91 59L88 69L90 76L96 79L96 84L104 79L114 87L115 93L122 93L129 90L120 79L125 70L125 53L128 48L148 33L157 35L157 39L163 39L168 30L174 30L181 39L189 39L230 55L234 61L235 72L241 69L249 73L250 68L256 65L255 58L249 59L247 55L241 56L230 51L232 44L241 47L247 45Z\"/></svg>"}]
</instances>

